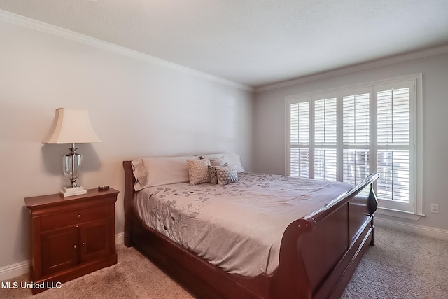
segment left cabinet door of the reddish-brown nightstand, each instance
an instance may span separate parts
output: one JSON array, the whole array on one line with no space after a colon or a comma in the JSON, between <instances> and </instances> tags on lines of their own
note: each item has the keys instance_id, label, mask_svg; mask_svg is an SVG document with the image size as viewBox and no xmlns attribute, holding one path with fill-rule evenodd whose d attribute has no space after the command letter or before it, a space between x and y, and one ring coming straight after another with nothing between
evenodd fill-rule
<instances>
[{"instance_id":1,"label":"left cabinet door of the reddish-brown nightstand","mask_svg":"<svg viewBox=\"0 0 448 299\"><path fill-rule=\"evenodd\" d=\"M61 228L41 234L42 275L59 272L78 264L78 230Z\"/></svg>"}]
</instances>

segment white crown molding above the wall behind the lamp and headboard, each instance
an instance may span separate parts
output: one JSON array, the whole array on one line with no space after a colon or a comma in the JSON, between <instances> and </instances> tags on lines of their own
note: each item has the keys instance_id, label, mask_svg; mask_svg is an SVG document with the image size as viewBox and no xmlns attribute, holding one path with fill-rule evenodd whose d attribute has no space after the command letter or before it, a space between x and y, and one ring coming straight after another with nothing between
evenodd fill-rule
<instances>
[{"instance_id":1,"label":"white crown molding above the wall behind the lamp and headboard","mask_svg":"<svg viewBox=\"0 0 448 299\"><path fill-rule=\"evenodd\" d=\"M243 85L234 81L230 81L224 78L220 78L218 76L213 76L202 71L197 71L195 69L190 69L189 67L183 67L180 64L175 64L174 62L169 62L167 60L162 60L158 57L153 57L151 55L146 55L144 53L130 50L128 48L115 45L113 43L107 43L106 41L102 41L100 39L94 39L91 36L87 36L85 34L80 34L78 32L73 32L68 29L64 29L61 27L57 27L55 25L50 25L45 22L41 22L38 20L34 20L31 18L24 17L22 15L17 15L15 13L10 13L8 11L0 10L0 20L5 22L10 22L15 25L20 25L22 27L27 27L30 29L37 30L39 32L45 32L47 34L52 34L55 36L62 37L64 39L69 39L71 41L76 41L78 43L84 43L88 46L92 46L95 48L99 48L102 50L106 50L112 53L116 53L118 55L123 55L127 57L132 57L137 60L141 60L150 64L155 64L160 67L166 67L168 69L173 69L175 71L181 71L185 74L189 74L192 76L196 76L198 78L206 79L208 81L213 81L216 83L221 83L223 85L228 85L233 88L239 88L241 90L247 90L249 92L254 92L255 88L251 86Z\"/></svg>"}]
</instances>

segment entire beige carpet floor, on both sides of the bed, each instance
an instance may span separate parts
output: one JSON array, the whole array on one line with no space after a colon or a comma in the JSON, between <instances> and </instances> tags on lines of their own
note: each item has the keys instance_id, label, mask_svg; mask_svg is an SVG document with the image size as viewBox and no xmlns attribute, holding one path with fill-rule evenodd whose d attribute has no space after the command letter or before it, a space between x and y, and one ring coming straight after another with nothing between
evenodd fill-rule
<instances>
[{"instance_id":1,"label":"entire beige carpet floor, on both sides of the bed","mask_svg":"<svg viewBox=\"0 0 448 299\"><path fill-rule=\"evenodd\" d=\"M139 252L117 246L118 264L32 296L1 289L0 298L193 298ZM377 228L342 298L448 298L448 242ZM22 275L10 281L29 281Z\"/></svg>"}]
</instances>

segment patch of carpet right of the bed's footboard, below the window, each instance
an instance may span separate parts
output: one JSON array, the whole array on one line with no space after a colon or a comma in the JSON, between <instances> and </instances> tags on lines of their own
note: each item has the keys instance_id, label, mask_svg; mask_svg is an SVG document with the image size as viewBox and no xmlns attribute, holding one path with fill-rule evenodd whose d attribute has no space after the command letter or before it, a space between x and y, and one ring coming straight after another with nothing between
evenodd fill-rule
<instances>
[{"instance_id":1,"label":"patch of carpet right of the bed's footboard, below the window","mask_svg":"<svg viewBox=\"0 0 448 299\"><path fill-rule=\"evenodd\" d=\"M342 298L448 298L448 241L377 227Z\"/></svg>"}]
</instances>

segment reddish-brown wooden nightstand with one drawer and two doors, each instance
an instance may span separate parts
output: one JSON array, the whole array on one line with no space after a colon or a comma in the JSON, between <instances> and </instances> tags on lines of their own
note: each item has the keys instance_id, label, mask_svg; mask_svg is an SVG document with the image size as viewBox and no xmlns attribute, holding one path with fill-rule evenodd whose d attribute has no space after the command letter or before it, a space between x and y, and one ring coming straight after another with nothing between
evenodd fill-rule
<instances>
[{"instance_id":1,"label":"reddish-brown wooden nightstand with one drawer and two doors","mask_svg":"<svg viewBox=\"0 0 448 299\"><path fill-rule=\"evenodd\" d=\"M31 214L31 284L39 293L117 263L118 191L87 190L25 198Z\"/></svg>"}]
</instances>

